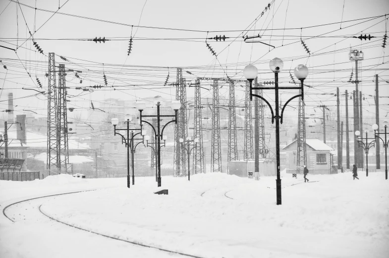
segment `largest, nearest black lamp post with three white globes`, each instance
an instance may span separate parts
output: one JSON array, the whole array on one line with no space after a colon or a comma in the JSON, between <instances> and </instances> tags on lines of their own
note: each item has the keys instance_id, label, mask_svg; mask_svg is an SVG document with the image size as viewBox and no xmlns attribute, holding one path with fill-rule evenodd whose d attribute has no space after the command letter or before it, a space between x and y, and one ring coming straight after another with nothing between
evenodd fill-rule
<instances>
[{"instance_id":1,"label":"largest, nearest black lamp post with three white globes","mask_svg":"<svg viewBox=\"0 0 389 258\"><path fill-rule=\"evenodd\" d=\"M277 205L281 204L281 179L280 179L280 159L279 159L279 122L282 124L282 115L285 107L288 105L288 103L297 97L301 97L301 99L304 99L304 79L308 75L308 68L305 65L297 65L296 68L294 68L294 75L301 81L301 85L299 87L278 87L278 72L280 72L283 68L283 62L279 58L275 58L270 61L269 63L270 69L275 74L275 87L253 87L252 82L258 75L258 69L254 65L247 65L243 70L243 75L246 77L246 79L250 82L250 100L253 100L253 96L262 99L266 102L266 104L269 106L270 111L272 112L272 124L274 123L274 120L276 120L276 158L277 158L277 179L276 179L276 191L277 191ZM276 115L274 115L273 108L269 104L269 102L262 96L253 94L253 90L275 90L275 104L276 104ZM278 103L278 90L279 89L299 89L301 91L301 94L295 95L291 97L282 107L281 115L279 115L279 103ZM257 122L255 122L257 123Z\"/></svg>"}]
</instances>

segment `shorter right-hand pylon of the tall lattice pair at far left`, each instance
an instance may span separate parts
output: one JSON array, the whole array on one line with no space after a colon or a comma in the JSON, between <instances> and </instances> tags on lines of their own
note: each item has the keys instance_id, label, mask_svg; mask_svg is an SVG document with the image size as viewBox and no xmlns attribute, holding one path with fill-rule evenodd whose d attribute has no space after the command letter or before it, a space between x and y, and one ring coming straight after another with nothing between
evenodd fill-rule
<instances>
[{"instance_id":1,"label":"shorter right-hand pylon of the tall lattice pair at far left","mask_svg":"<svg viewBox=\"0 0 389 258\"><path fill-rule=\"evenodd\" d=\"M66 173L66 164L69 162L68 137L67 137L67 112L66 112L66 83L65 65L60 64L58 70L58 110L57 110L57 135L58 135L58 169L59 173ZM63 158L61 158L61 156Z\"/></svg>"}]
</instances>

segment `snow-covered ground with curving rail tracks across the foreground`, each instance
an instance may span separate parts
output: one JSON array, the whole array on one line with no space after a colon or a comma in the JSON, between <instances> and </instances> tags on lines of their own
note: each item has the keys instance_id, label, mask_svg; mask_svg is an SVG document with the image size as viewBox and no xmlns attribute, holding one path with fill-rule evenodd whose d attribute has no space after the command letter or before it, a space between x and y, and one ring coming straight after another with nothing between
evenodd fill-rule
<instances>
[{"instance_id":1,"label":"snow-covered ground with curving rail tracks across the foreground","mask_svg":"<svg viewBox=\"0 0 389 258\"><path fill-rule=\"evenodd\" d=\"M387 258L389 181L382 172L282 174L260 181L207 173L187 178L81 179L50 176L0 181L0 207L24 199L0 218L1 258L182 257L72 228L204 258ZM168 189L168 195L154 192Z\"/></svg>"}]
</instances>

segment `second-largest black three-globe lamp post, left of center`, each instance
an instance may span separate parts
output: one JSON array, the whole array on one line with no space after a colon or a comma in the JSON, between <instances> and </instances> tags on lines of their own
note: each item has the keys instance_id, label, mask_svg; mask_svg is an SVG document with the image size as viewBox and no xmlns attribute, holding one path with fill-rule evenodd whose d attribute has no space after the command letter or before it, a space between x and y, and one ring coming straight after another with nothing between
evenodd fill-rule
<instances>
[{"instance_id":1,"label":"second-largest black three-globe lamp post, left of center","mask_svg":"<svg viewBox=\"0 0 389 258\"><path fill-rule=\"evenodd\" d=\"M162 104L162 97L161 96L156 96L154 98L154 104L157 105L157 115L142 116L142 111L146 107L146 103L144 103L142 101L138 101L136 106L137 106L137 109L139 110L139 113L140 113L139 118L140 118L141 129L142 129L142 123L148 124L154 130L154 133L155 133L156 138L157 138L156 148L157 148L157 167L158 167L158 187L161 187L161 159L160 159L160 156L161 156L161 138L163 137L164 129L166 128L166 126L168 124L170 124L172 122L175 122L175 124L177 124L177 115L178 115L177 111L181 108L181 103L177 100L171 101L171 108L174 110L174 113L175 113L174 115L160 115L160 106ZM142 120L142 117L143 118L145 118L145 117L157 118L157 130L153 127L152 124L150 124L147 121ZM160 118L161 117L170 117L170 118L174 118L174 119L167 122L167 124L165 124L165 126L161 130L160 129L160 126L161 126Z\"/></svg>"}]
</instances>

